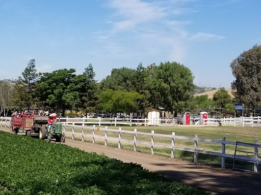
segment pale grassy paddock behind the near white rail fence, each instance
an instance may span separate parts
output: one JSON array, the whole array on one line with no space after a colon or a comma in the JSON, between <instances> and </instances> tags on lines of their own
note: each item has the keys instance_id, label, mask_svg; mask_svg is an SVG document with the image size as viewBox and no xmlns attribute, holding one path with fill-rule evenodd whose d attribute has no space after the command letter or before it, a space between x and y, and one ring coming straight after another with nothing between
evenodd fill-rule
<instances>
[{"instance_id":1,"label":"pale grassy paddock behind the near white rail fence","mask_svg":"<svg viewBox=\"0 0 261 195\"><path fill-rule=\"evenodd\" d=\"M96 126L98 127L98 126ZM102 126L104 128L104 126ZM119 129L119 126L108 126L108 128ZM134 128L137 128L138 132L146 132L151 133L151 130L154 131L155 134L167 134L171 135L172 132L175 132L176 136L186 136L186 137L194 137L195 134L198 135L198 138L204 139L213 139L213 140L222 140L222 137L225 137L227 141L241 141L254 143L254 140L260 140L261 143L261 128L251 128L251 127L234 127L234 126L195 126L195 125L179 125L179 126L121 126L122 130L134 131ZM66 127L66 131L72 131L72 127ZM82 128L75 128L75 132L82 133ZM92 129L85 129L85 134L92 135ZM105 136L104 131L95 132L95 135ZM71 137L71 135L68 134ZM81 136L75 135L75 139L81 140ZM108 137L118 138L118 133L108 132ZM133 134L121 134L122 139L134 140ZM92 137L85 137L85 141L92 142ZM148 142L150 143L151 137L144 135L137 135L137 141ZM104 144L104 139L95 139L95 143ZM163 145L171 145L170 138L156 137L154 138L154 143L163 144ZM118 147L117 141L108 140L108 145L112 147ZM194 141L191 140L181 140L175 139L175 146L185 147L185 148L194 148ZM122 142L122 148L133 150L133 144ZM198 142L199 150L213 151L213 152L221 152L222 145L216 143L209 142ZM233 154L235 146L234 145L226 145L226 153ZM238 149L246 150L253 152L253 148L249 147L239 147ZM150 153L150 147L145 145L137 144L137 151ZM170 157L171 149L155 147L154 153L157 155L163 155ZM242 155L252 155L246 153L237 153ZM184 159L187 161L193 161L194 153L175 150L175 158ZM226 167L231 168L232 166L232 158L226 158ZM215 167L221 166L221 157L213 156L207 154L198 153L198 163L211 165Z\"/></svg>"}]
</instances>

